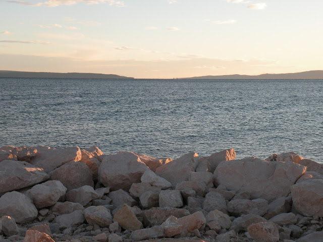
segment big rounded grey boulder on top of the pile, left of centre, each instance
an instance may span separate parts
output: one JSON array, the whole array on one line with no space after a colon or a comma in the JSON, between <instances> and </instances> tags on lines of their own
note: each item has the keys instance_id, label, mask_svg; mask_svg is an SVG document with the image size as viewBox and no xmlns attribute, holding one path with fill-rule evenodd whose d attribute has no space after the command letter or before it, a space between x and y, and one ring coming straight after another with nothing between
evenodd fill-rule
<instances>
[{"instance_id":1,"label":"big rounded grey boulder on top of the pile, left of centre","mask_svg":"<svg viewBox=\"0 0 323 242\"><path fill-rule=\"evenodd\" d=\"M103 158L98 171L98 180L111 191L129 191L133 183L140 183L142 174L149 169L139 156L121 151Z\"/></svg>"}]
</instances>

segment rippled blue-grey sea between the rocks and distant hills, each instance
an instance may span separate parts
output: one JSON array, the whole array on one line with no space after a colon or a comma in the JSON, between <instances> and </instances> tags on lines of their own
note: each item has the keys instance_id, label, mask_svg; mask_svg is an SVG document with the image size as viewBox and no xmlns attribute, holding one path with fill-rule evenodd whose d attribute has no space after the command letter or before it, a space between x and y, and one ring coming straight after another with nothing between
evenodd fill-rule
<instances>
[{"instance_id":1,"label":"rippled blue-grey sea between the rocks and distant hills","mask_svg":"<svg viewBox=\"0 0 323 242\"><path fill-rule=\"evenodd\" d=\"M0 78L0 146L323 162L323 80Z\"/></svg>"}]
</instances>

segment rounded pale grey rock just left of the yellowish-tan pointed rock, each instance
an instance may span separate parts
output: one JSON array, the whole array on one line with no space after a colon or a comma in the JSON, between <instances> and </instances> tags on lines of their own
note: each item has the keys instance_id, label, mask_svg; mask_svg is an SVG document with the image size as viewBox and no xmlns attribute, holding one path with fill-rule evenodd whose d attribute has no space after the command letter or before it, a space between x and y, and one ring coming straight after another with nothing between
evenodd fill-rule
<instances>
[{"instance_id":1,"label":"rounded pale grey rock just left of the yellowish-tan pointed rock","mask_svg":"<svg viewBox=\"0 0 323 242\"><path fill-rule=\"evenodd\" d=\"M84 209L84 216L88 224L107 227L112 223L112 215L109 209L103 206L90 206Z\"/></svg>"}]
</instances>

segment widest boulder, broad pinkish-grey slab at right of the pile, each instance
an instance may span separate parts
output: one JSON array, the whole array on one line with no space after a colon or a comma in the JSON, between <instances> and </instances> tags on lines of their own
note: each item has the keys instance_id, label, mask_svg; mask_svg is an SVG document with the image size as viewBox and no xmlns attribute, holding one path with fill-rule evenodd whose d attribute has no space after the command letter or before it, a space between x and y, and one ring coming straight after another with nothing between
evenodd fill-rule
<instances>
[{"instance_id":1,"label":"widest boulder, broad pinkish-grey slab at right of the pile","mask_svg":"<svg viewBox=\"0 0 323 242\"><path fill-rule=\"evenodd\" d=\"M228 190L247 192L251 199L273 201L287 197L290 186L306 171L306 167L292 162L231 160L222 162L214 171L214 183Z\"/></svg>"}]
</instances>

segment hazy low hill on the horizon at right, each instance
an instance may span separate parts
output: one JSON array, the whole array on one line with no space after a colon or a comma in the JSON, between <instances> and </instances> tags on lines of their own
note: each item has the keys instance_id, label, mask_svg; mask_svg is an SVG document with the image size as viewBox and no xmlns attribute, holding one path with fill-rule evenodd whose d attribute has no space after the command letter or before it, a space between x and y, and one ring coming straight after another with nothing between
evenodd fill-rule
<instances>
[{"instance_id":1,"label":"hazy low hill on the horizon at right","mask_svg":"<svg viewBox=\"0 0 323 242\"><path fill-rule=\"evenodd\" d=\"M308 71L308 72L298 72L298 73L285 73L285 74L261 74L258 76L249 75L224 75L224 76L203 76L203 77L188 77L179 79L207 79L207 80L219 80L219 79L270 79L270 80L280 80L280 79L323 79L323 71Z\"/></svg>"}]
</instances>

